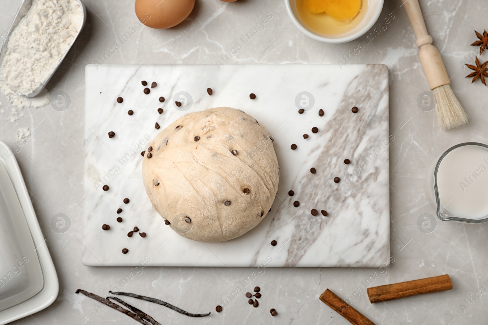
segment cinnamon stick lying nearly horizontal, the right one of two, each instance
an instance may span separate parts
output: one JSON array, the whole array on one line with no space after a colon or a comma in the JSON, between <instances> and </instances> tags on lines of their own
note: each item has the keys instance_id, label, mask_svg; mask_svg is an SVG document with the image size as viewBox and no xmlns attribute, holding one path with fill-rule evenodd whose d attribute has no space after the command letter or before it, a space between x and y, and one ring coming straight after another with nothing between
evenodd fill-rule
<instances>
[{"instance_id":1,"label":"cinnamon stick lying nearly horizontal, the right one of two","mask_svg":"<svg viewBox=\"0 0 488 325\"><path fill-rule=\"evenodd\" d=\"M448 274L420 280L413 280L392 285L367 288L367 296L372 303L400 299L421 293L431 293L452 289Z\"/></svg>"}]
</instances>

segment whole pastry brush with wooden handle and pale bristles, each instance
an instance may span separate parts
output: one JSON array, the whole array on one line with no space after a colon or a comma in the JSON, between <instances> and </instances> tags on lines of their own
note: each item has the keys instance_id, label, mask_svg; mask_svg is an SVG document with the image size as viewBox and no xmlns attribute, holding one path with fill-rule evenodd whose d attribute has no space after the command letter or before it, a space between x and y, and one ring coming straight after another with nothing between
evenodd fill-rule
<instances>
[{"instance_id":1,"label":"whole pastry brush with wooden handle and pale bristles","mask_svg":"<svg viewBox=\"0 0 488 325\"><path fill-rule=\"evenodd\" d=\"M432 45L432 37L428 35L419 0L407 0L403 5L417 38L415 44L420 48L419 58L427 83L437 100L439 124L445 130L459 128L468 123L468 114L449 85L451 82L447 76L446 66L441 54Z\"/></svg>"}]
</instances>

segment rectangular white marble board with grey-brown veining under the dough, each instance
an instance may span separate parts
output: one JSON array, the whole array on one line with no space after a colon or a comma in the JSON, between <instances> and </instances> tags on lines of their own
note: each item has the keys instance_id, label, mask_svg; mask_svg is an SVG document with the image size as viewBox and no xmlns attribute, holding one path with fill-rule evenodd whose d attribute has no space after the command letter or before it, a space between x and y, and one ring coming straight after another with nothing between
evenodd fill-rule
<instances>
[{"instance_id":1,"label":"rectangular white marble board with grey-brown veining under the dough","mask_svg":"<svg viewBox=\"0 0 488 325\"><path fill-rule=\"evenodd\" d=\"M354 268L388 260L391 138L385 65L89 64L85 76L84 265L137 266L150 260L149 266L251 267L272 255L273 267ZM158 85L145 95L141 80ZM314 105L298 114L295 99L304 91L312 94ZM180 92L190 94L191 106L184 106ZM176 100L183 101L185 111L177 110ZM152 208L142 185L140 152L180 116L220 106L254 116L273 135L279 190L255 229L224 243L196 242L166 226ZM313 134L312 127L319 132ZM109 138L109 131L116 136ZM290 149L292 143L297 150ZM340 183L333 181L336 176ZM129 204L122 202L125 197ZM328 216L313 217L311 209L326 210ZM110 230L102 230L103 224ZM147 237L129 238L134 226ZM271 246L272 240L278 244ZM129 252L122 254L123 248Z\"/></svg>"}]
</instances>

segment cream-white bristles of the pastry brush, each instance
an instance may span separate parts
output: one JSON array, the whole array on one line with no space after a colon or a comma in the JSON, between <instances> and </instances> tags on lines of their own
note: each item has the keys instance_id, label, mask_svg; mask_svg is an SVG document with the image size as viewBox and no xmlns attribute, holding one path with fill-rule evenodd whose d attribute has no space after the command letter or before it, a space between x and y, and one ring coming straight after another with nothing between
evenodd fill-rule
<instances>
[{"instance_id":1,"label":"cream-white bristles of the pastry brush","mask_svg":"<svg viewBox=\"0 0 488 325\"><path fill-rule=\"evenodd\" d=\"M434 88L437 100L437 118L444 130L456 129L468 123L468 114L448 84Z\"/></svg>"}]
</instances>

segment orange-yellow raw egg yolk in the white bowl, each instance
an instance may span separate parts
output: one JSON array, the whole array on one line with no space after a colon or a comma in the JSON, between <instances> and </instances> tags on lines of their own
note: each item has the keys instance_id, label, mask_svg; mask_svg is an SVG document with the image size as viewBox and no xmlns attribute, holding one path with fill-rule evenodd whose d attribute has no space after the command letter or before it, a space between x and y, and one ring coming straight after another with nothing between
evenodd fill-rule
<instances>
[{"instance_id":1,"label":"orange-yellow raw egg yolk in the white bowl","mask_svg":"<svg viewBox=\"0 0 488 325\"><path fill-rule=\"evenodd\" d=\"M307 0L306 8L312 14L325 12L338 20L351 20L361 10L361 0Z\"/></svg>"}]
</instances>

